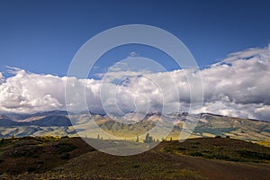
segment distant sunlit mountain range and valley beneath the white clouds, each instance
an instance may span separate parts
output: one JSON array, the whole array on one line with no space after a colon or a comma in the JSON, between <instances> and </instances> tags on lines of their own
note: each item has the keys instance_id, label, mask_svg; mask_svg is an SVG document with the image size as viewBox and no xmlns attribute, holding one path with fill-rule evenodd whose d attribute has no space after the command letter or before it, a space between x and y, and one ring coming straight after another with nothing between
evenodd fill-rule
<instances>
[{"instance_id":1,"label":"distant sunlit mountain range and valley beneath the white clouds","mask_svg":"<svg viewBox=\"0 0 270 180\"><path fill-rule=\"evenodd\" d=\"M117 121L114 121L115 119ZM178 139L181 130L184 130L184 122L195 120L199 121L190 138L227 136L248 141L269 141L270 139L270 122L268 121L211 113L175 112L162 115L160 112L148 112L147 114L130 112L119 118L111 118L104 114L91 114L91 120L94 120L101 129L116 136L127 135L128 139L151 130L155 126L157 126L157 130L163 128L158 127L157 124L157 121L163 119L173 121L174 129L167 137L156 135L154 137L156 139ZM89 120L89 116L85 112L68 114L66 111L51 111L34 114L4 114L0 115L0 137L77 136L77 132L79 132L80 136L96 138L98 132L93 126L93 121Z\"/></svg>"}]
</instances>

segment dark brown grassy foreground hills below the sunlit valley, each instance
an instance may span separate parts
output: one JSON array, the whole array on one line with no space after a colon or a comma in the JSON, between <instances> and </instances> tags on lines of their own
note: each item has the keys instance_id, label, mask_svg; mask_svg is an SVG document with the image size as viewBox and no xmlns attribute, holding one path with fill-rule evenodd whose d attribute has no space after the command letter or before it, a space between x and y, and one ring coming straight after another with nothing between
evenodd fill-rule
<instances>
[{"instance_id":1,"label":"dark brown grassy foreground hills below the sunlit valley","mask_svg":"<svg viewBox=\"0 0 270 180\"><path fill-rule=\"evenodd\" d=\"M269 157L270 148L237 139L166 141L130 157L104 154L79 138L5 139L0 178L267 179Z\"/></svg>"}]
</instances>

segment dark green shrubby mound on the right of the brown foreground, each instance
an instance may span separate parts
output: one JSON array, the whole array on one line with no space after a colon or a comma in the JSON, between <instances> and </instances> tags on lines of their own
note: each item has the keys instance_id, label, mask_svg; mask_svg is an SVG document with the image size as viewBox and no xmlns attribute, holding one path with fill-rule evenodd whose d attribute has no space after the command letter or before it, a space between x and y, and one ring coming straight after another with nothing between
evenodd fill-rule
<instances>
[{"instance_id":1,"label":"dark green shrubby mound on the right of the brown foreground","mask_svg":"<svg viewBox=\"0 0 270 180\"><path fill-rule=\"evenodd\" d=\"M167 143L164 150L172 154L241 162L267 163L270 160L270 148L238 139L218 137L214 139L189 139L183 143Z\"/></svg>"}]
</instances>

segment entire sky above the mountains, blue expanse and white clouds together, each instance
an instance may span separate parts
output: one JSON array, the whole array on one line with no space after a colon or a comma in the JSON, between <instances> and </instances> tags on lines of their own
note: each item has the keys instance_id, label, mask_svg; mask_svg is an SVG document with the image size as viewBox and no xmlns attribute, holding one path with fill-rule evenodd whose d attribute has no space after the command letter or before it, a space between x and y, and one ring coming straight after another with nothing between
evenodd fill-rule
<instances>
[{"instance_id":1,"label":"entire sky above the mountains, blue expanse and white clouds together","mask_svg":"<svg viewBox=\"0 0 270 180\"><path fill-rule=\"evenodd\" d=\"M120 88L117 101L125 112L133 112L134 104L147 110L148 102L151 102L148 106L151 111L160 111L165 103L167 110L179 106L180 112L188 112L192 96L197 100L203 97L203 107L194 108L196 113L269 121L269 6L268 1L252 0L0 0L0 113L65 110L69 104L76 111L84 110L85 99L76 92L84 86L83 81L79 77L64 77L77 50L94 35L110 28L147 24L169 31L182 40L201 70L195 73L189 69L175 70L179 67L173 59L148 46L130 44L111 49L95 64L90 77L104 74L108 67L127 58L131 52L153 59L169 72L154 73L151 78L125 69L109 73L129 82L128 85L114 85L112 81L108 83L111 86L106 83L102 86L103 80L97 76L87 79L86 103L91 112L103 112L106 104L112 112L116 111L118 104L114 104L115 94L111 92L117 93L113 89ZM237 53L230 54L233 52ZM139 58L136 59L138 62ZM217 63L224 59L226 63ZM126 78L127 74L133 77ZM175 85L168 81L168 75ZM67 79L76 84L69 95L75 102L68 104ZM150 84L151 79L157 84ZM203 83L203 96L198 88L200 83ZM163 93L157 92L157 85L164 87ZM173 92L174 86L178 92ZM104 96L100 94L103 88ZM163 96L167 98L164 102L161 101Z\"/></svg>"}]
</instances>

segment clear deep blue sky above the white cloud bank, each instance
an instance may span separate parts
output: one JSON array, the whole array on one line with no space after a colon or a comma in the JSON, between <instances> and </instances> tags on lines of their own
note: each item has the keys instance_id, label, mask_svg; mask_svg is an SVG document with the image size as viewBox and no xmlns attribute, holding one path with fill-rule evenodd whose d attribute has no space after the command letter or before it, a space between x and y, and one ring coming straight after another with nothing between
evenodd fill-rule
<instances>
[{"instance_id":1,"label":"clear deep blue sky above the white cloud bank","mask_svg":"<svg viewBox=\"0 0 270 180\"><path fill-rule=\"evenodd\" d=\"M124 24L173 33L200 67L230 52L270 42L269 1L0 1L0 71L5 66L65 76L76 51L95 34ZM127 46L103 56L103 68L130 51L175 64L155 49ZM155 54L155 55L154 55Z\"/></svg>"}]
</instances>

